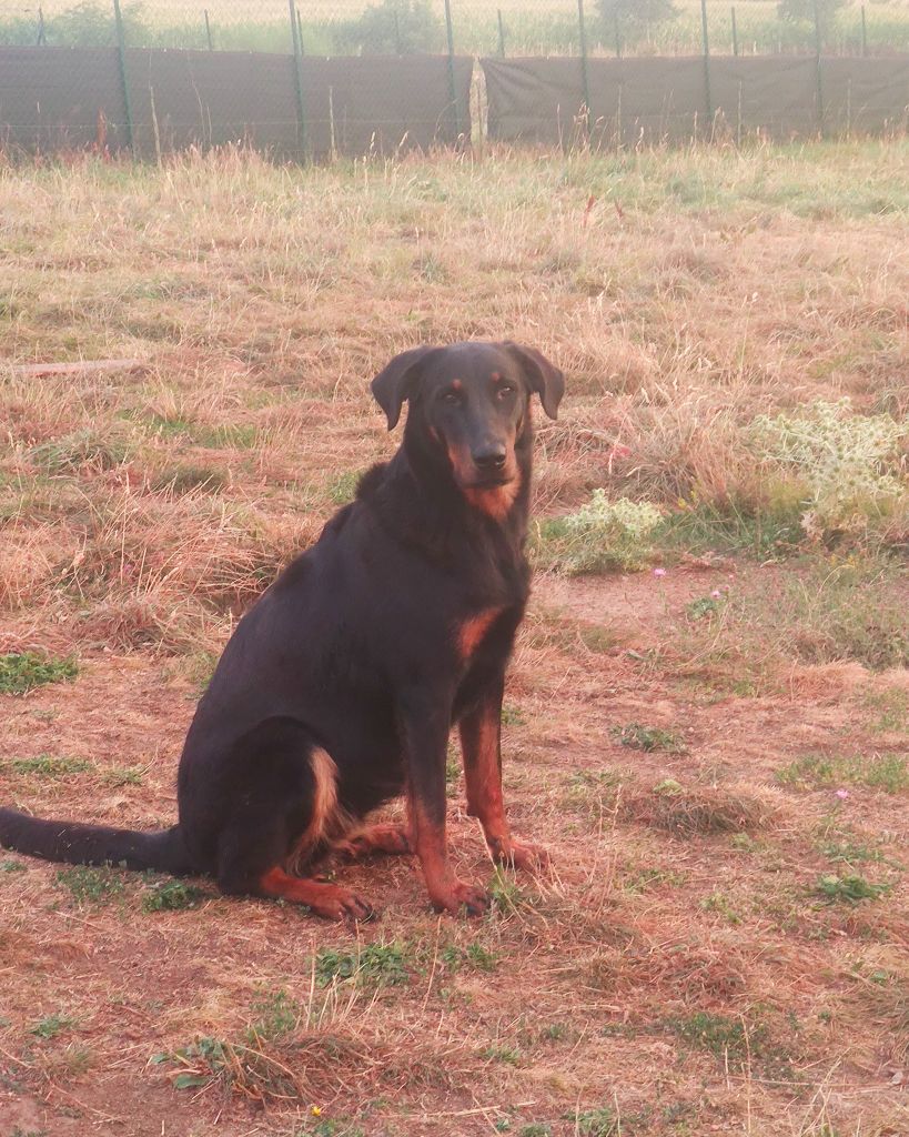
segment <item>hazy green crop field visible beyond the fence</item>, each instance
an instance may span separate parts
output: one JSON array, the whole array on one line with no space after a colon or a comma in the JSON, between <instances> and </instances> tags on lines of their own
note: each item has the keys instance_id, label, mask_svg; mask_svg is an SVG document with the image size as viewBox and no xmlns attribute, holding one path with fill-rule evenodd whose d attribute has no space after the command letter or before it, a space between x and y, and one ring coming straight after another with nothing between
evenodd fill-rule
<instances>
[{"instance_id":1,"label":"hazy green crop field visible beyond the fence","mask_svg":"<svg viewBox=\"0 0 909 1137\"><path fill-rule=\"evenodd\" d=\"M825 33L825 50L861 50L861 5L843 7ZM732 51L732 5L709 0L712 50ZM394 22L394 10L398 20ZM698 0L678 0L677 16L652 25L622 27L626 53L689 55L701 50L701 11ZM75 5L48 0L42 6L49 43L112 42L111 6L106 0ZM360 51L447 50L441 0L417 6L393 0L318 0L299 5L305 49L312 55ZM576 53L579 50L577 5L574 0L451 0L454 45L458 51L494 53L499 50L501 13L508 55ZM384 17L374 18L383 13ZM127 36L133 43L162 47L208 45L206 13L212 44L224 50L289 51L289 8L283 0L148 0L124 3ZM772 0L739 0L735 5L739 49L743 53L811 51L815 32L809 22L782 19ZM909 50L909 5L906 0L868 0L865 5L869 51ZM16 0L0 3L0 43L35 42L37 6ZM586 5L586 34L593 53L615 51L615 25L601 18L595 3Z\"/></svg>"}]
</instances>

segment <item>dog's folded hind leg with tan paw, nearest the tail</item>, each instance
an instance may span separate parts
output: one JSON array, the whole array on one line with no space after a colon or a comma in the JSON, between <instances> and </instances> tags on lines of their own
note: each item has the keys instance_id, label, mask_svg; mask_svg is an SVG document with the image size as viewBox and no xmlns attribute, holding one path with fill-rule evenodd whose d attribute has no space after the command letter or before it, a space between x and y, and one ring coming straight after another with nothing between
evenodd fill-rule
<instances>
[{"instance_id":1,"label":"dog's folded hind leg with tan paw, nearest the tail","mask_svg":"<svg viewBox=\"0 0 909 1137\"><path fill-rule=\"evenodd\" d=\"M349 889L287 871L324 844L337 808L335 765L306 728L268 720L231 758L236 774L217 849L222 891L305 904L328 920L370 919L372 906Z\"/></svg>"}]
</instances>

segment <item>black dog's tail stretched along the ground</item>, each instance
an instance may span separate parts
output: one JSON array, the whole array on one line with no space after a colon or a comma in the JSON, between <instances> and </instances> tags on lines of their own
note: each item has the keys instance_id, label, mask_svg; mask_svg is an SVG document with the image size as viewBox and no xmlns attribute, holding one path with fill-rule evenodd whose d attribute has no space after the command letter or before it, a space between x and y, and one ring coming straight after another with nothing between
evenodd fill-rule
<instances>
[{"instance_id":1,"label":"black dog's tail stretched along the ground","mask_svg":"<svg viewBox=\"0 0 909 1137\"><path fill-rule=\"evenodd\" d=\"M0 846L68 864L123 864L127 869L156 869L175 877L195 871L180 825L143 833L75 821L47 821L15 810L0 810Z\"/></svg>"}]
</instances>

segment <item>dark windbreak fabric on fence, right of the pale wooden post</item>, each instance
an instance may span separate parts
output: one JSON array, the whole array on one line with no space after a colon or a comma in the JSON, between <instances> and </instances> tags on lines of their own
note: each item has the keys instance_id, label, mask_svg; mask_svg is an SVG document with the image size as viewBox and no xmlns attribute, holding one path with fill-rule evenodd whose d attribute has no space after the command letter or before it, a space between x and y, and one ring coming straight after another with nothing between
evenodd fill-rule
<instances>
[{"instance_id":1,"label":"dark windbreak fabric on fence, right of the pale wooden post","mask_svg":"<svg viewBox=\"0 0 909 1137\"><path fill-rule=\"evenodd\" d=\"M786 139L906 126L909 58L749 56L710 58L483 59L489 134L566 144L586 136L625 143L684 141L717 131ZM582 117L583 116L583 117Z\"/></svg>"}]
</instances>

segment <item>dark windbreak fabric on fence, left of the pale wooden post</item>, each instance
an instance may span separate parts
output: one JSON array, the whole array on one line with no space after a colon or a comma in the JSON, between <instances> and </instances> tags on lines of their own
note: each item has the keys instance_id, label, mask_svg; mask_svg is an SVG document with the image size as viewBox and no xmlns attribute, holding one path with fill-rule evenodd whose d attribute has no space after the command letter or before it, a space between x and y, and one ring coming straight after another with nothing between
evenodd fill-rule
<instances>
[{"instance_id":1,"label":"dark windbreak fabric on fence, left of the pale wooden post","mask_svg":"<svg viewBox=\"0 0 909 1137\"><path fill-rule=\"evenodd\" d=\"M469 138L473 61L447 56L302 60L309 152L392 153ZM277 156L300 153L292 56L265 52L126 52L133 138L156 148L245 141ZM103 126L99 126L99 117ZM119 59L112 49L0 48L0 136L51 151L126 140Z\"/></svg>"}]
</instances>

